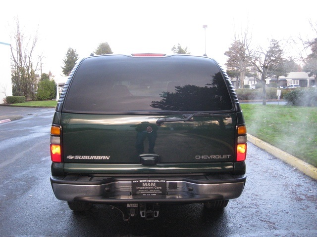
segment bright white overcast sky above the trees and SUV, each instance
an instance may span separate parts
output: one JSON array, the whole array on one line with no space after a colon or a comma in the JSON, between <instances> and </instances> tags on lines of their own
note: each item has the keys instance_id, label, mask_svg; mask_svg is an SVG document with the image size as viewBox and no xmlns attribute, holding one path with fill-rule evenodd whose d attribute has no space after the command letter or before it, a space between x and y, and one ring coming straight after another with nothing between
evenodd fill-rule
<instances>
[{"instance_id":1,"label":"bright white overcast sky above the trees and SUV","mask_svg":"<svg viewBox=\"0 0 317 237\"><path fill-rule=\"evenodd\" d=\"M317 22L316 8L312 0L6 0L0 7L0 41L14 45L14 17L25 37L38 29L34 57L42 54L43 73L57 76L69 47L82 58L101 42L114 53L171 53L180 43L203 55L203 25L208 25L207 55L224 65L235 32L247 26L254 45L272 38L316 38L309 24Z\"/></svg>"}]
</instances>

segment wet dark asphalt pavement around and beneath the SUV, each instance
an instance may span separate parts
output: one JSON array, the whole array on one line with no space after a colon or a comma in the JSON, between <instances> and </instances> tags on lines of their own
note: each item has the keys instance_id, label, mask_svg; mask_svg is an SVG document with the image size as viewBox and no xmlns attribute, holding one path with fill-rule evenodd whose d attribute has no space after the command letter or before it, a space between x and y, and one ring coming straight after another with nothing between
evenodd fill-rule
<instances>
[{"instance_id":1,"label":"wet dark asphalt pavement around and beneath the SUV","mask_svg":"<svg viewBox=\"0 0 317 237\"><path fill-rule=\"evenodd\" d=\"M245 190L222 212L161 206L154 221L128 222L106 205L75 214L50 185L53 111L23 108L23 118L0 124L0 236L317 236L317 181L250 143Z\"/></svg>"}]
</instances>

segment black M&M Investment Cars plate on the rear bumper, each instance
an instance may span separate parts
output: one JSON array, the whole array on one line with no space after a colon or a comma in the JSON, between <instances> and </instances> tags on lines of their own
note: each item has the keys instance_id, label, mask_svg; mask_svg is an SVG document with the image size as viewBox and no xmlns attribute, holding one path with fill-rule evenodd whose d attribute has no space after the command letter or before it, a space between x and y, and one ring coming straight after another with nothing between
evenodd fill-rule
<instances>
[{"instance_id":1,"label":"black M&M Investment Cars plate on the rear bumper","mask_svg":"<svg viewBox=\"0 0 317 237\"><path fill-rule=\"evenodd\" d=\"M165 196L166 180L139 179L132 181L133 196Z\"/></svg>"}]
</instances>

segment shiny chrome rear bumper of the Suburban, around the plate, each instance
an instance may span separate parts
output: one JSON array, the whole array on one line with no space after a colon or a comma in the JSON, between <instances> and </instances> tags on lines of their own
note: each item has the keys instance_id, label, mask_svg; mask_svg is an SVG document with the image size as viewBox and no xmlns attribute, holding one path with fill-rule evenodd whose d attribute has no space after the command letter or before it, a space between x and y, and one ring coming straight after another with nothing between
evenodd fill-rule
<instances>
[{"instance_id":1,"label":"shiny chrome rear bumper of the Suburban, around the plate","mask_svg":"<svg viewBox=\"0 0 317 237\"><path fill-rule=\"evenodd\" d=\"M234 199L241 195L246 175L222 179L204 177L156 177L166 180L166 196L132 196L132 180L138 178L109 178L109 180L76 181L51 177L55 197L66 201L94 203L193 203L209 200Z\"/></svg>"}]
</instances>

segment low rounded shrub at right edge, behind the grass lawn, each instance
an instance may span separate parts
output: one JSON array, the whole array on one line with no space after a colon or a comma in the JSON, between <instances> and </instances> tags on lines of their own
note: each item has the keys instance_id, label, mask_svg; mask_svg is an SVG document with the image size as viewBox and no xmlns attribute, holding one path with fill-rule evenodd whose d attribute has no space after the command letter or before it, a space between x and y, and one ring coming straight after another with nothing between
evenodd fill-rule
<instances>
[{"instance_id":1,"label":"low rounded shrub at right edge, behind the grass lawn","mask_svg":"<svg viewBox=\"0 0 317 237\"><path fill-rule=\"evenodd\" d=\"M284 95L288 105L317 106L317 89L302 88L291 90Z\"/></svg>"}]
</instances>

